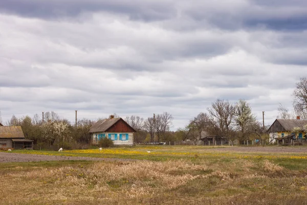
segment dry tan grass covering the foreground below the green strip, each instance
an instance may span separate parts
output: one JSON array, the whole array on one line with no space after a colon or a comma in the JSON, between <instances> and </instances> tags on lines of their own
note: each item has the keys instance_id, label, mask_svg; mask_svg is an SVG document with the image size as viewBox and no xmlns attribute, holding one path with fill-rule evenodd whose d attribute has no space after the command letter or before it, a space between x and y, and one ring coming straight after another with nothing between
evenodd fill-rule
<instances>
[{"instance_id":1,"label":"dry tan grass covering the foreground below the green strip","mask_svg":"<svg viewBox=\"0 0 307 205\"><path fill-rule=\"evenodd\" d=\"M269 160L25 165L0 169L0 204L306 204L307 201L306 170L289 170Z\"/></svg>"}]
</instances>

